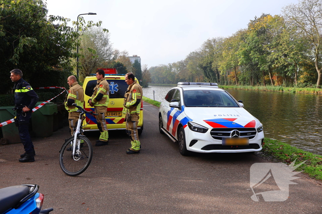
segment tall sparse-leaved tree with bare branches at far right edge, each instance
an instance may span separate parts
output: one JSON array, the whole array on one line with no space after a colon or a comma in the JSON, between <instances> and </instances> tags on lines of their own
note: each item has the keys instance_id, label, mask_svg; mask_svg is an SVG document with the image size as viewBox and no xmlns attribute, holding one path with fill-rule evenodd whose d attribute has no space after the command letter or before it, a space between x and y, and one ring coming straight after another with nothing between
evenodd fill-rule
<instances>
[{"instance_id":1,"label":"tall sparse-leaved tree with bare branches at far right edge","mask_svg":"<svg viewBox=\"0 0 322 214\"><path fill-rule=\"evenodd\" d=\"M322 35L322 2L321 0L299 0L298 4L289 4L283 8L285 19L290 25L297 28L311 45L312 61L314 62L318 77L317 88L321 85L320 53Z\"/></svg>"}]
</instances>

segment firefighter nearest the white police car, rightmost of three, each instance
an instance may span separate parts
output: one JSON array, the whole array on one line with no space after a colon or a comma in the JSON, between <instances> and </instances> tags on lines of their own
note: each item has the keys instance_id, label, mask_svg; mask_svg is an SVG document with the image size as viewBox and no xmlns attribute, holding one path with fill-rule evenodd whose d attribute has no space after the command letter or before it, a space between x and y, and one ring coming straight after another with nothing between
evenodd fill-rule
<instances>
[{"instance_id":1,"label":"firefighter nearest the white police car, rightmost of three","mask_svg":"<svg viewBox=\"0 0 322 214\"><path fill-rule=\"evenodd\" d=\"M137 122L140 118L141 98L143 96L142 87L135 80L133 73L125 75L125 81L129 85L124 95L123 114L126 114L126 132L131 139L131 147L127 154L140 153L140 141L137 133Z\"/></svg>"}]
</instances>

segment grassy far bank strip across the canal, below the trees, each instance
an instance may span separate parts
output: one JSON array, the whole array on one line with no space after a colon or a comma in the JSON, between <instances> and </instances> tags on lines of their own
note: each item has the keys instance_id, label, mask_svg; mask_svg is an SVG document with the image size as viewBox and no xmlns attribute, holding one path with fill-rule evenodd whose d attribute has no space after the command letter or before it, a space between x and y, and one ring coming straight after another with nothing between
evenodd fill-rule
<instances>
[{"instance_id":1,"label":"grassy far bank strip across the canal, below the trees","mask_svg":"<svg viewBox=\"0 0 322 214\"><path fill-rule=\"evenodd\" d=\"M257 90L257 91L279 91L289 93L306 93L306 94L322 94L322 89L317 88L291 88L282 86L238 86L238 85L220 85L222 89L238 89L238 90Z\"/></svg>"}]
</instances>

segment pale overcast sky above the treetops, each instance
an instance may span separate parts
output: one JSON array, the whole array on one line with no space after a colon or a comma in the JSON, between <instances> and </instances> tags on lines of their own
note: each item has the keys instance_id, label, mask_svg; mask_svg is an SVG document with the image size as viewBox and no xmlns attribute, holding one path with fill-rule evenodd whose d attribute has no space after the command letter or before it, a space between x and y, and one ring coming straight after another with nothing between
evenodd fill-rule
<instances>
[{"instance_id":1,"label":"pale overcast sky above the treetops","mask_svg":"<svg viewBox=\"0 0 322 214\"><path fill-rule=\"evenodd\" d=\"M148 67L185 59L209 38L228 37L262 13L277 15L298 0L47 0L48 15L102 21L113 48Z\"/></svg>"}]
</instances>

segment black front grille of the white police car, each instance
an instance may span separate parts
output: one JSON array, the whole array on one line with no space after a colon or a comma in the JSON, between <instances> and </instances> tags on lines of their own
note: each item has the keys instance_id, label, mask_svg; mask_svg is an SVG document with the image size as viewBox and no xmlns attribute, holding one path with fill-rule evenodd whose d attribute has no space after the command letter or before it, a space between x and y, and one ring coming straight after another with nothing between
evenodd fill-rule
<instances>
[{"instance_id":1,"label":"black front grille of the white police car","mask_svg":"<svg viewBox=\"0 0 322 214\"><path fill-rule=\"evenodd\" d=\"M249 137L252 139L256 135L255 128L214 128L211 130L211 136L216 140L222 140L223 137L230 137L232 130L238 130L240 137Z\"/></svg>"}]
</instances>

